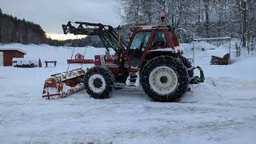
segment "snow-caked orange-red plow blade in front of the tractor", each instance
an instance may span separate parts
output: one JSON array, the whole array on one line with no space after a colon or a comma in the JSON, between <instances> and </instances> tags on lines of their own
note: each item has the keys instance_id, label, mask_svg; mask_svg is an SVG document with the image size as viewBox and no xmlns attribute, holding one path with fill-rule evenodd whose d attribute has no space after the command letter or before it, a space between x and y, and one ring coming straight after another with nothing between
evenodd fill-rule
<instances>
[{"instance_id":1,"label":"snow-caked orange-red plow blade in front of the tractor","mask_svg":"<svg viewBox=\"0 0 256 144\"><path fill-rule=\"evenodd\" d=\"M77 69L68 72L53 74L46 79L42 91L42 98L58 99L65 98L84 88L83 77L85 70Z\"/></svg>"}]
</instances>

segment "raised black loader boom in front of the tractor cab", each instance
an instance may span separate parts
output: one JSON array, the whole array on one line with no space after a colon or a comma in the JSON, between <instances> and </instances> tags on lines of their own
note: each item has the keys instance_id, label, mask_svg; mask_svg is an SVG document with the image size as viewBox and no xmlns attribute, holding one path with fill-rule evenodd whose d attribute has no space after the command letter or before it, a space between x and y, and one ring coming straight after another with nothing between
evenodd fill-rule
<instances>
[{"instance_id":1,"label":"raised black loader boom in front of the tractor cab","mask_svg":"<svg viewBox=\"0 0 256 144\"><path fill-rule=\"evenodd\" d=\"M126 43L112 26L90 22L74 22L74 24L77 24L78 27L72 26L72 22L62 25L64 34L98 35L107 51L110 51L109 47L117 54L123 54L126 50Z\"/></svg>"}]
</instances>

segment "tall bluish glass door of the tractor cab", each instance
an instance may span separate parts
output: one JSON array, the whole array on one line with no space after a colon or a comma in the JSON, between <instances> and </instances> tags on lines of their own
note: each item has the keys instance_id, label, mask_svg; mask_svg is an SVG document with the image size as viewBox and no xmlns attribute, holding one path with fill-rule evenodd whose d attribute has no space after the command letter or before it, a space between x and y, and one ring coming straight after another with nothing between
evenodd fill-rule
<instances>
[{"instance_id":1,"label":"tall bluish glass door of the tractor cab","mask_svg":"<svg viewBox=\"0 0 256 144\"><path fill-rule=\"evenodd\" d=\"M151 32L138 32L130 45L129 58L132 68L137 68L141 61L142 54L150 40Z\"/></svg>"}]
</instances>

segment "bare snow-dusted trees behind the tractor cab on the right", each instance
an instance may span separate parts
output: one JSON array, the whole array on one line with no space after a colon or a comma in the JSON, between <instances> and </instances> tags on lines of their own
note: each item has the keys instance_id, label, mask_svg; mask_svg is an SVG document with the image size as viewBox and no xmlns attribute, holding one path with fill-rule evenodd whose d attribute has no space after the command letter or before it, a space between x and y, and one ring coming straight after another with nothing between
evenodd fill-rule
<instances>
[{"instance_id":1,"label":"bare snow-dusted trees behind the tractor cab on the right","mask_svg":"<svg viewBox=\"0 0 256 144\"><path fill-rule=\"evenodd\" d=\"M119 0L126 24L159 24L166 13L166 24L173 26L181 40L232 36L241 38L243 47L256 38L256 0Z\"/></svg>"}]
</instances>

